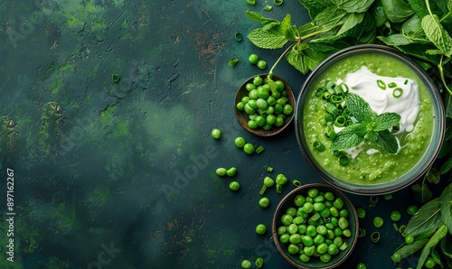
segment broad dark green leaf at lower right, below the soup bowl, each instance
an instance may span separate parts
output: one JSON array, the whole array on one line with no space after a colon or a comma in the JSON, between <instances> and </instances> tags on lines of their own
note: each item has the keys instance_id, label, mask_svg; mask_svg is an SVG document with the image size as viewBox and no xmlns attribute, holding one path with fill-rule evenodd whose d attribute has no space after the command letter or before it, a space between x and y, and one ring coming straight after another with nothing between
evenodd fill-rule
<instances>
[{"instance_id":1,"label":"broad dark green leaf at lower right, below the soup bowl","mask_svg":"<svg viewBox=\"0 0 452 269\"><path fill-rule=\"evenodd\" d=\"M428 203L424 204L413 217L411 217L405 228L405 233L416 237L423 232L433 230L441 226L442 220L440 216L440 204L439 198L432 199Z\"/></svg>"}]
</instances>

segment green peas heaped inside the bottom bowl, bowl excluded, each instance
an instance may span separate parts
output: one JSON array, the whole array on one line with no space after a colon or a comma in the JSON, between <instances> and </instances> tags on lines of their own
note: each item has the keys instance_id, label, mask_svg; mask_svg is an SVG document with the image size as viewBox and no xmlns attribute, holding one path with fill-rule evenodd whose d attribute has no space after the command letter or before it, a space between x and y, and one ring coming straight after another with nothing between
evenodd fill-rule
<instances>
[{"instance_id":1,"label":"green peas heaped inside the bottom bowl, bowl excluded","mask_svg":"<svg viewBox=\"0 0 452 269\"><path fill-rule=\"evenodd\" d=\"M293 201L294 206L287 208L278 227L279 242L289 254L297 255L304 263L315 257L327 263L348 248L347 238L352 237L352 231L343 199L311 188Z\"/></svg>"}]
</instances>

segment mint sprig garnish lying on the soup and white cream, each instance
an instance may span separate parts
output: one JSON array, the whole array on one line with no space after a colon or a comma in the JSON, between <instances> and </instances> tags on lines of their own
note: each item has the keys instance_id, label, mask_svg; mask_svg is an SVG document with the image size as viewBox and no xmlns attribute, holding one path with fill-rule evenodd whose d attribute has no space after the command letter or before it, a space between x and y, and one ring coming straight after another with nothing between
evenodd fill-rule
<instances>
[{"instance_id":1,"label":"mint sprig garnish lying on the soup and white cream","mask_svg":"<svg viewBox=\"0 0 452 269\"><path fill-rule=\"evenodd\" d=\"M355 123L337 133L331 144L332 150L353 148L366 139L388 153L397 153L399 144L390 129L393 126L399 126L400 115L392 112L378 115L363 97L353 93L345 95L345 102Z\"/></svg>"}]
</instances>

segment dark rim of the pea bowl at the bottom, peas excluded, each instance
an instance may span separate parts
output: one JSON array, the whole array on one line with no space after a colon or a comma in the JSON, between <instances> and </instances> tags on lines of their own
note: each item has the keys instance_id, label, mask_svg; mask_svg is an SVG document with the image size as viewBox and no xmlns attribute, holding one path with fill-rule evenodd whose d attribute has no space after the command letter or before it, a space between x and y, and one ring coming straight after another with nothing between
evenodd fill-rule
<instances>
[{"instance_id":1,"label":"dark rim of the pea bowl at the bottom, peas excluded","mask_svg":"<svg viewBox=\"0 0 452 269\"><path fill-rule=\"evenodd\" d=\"M280 255L282 255L284 257L284 259L289 263L294 265L297 268L300 269L311 269L312 267L306 267L302 264L297 264L289 255L286 254L286 252L282 249L281 243L279 242L279 237L278 237L278 216L280 213L280 210L283 208L283 205L289 201L288 199L294 195L295 193L299 192L299 191L303 191L303 190L309 190L310 188L324 188L324 189L328 189L328 190L332 190L334 192L339 193L340 196L342 196L342 198L344 199L344 203L348 204L350 206L350 208L352 209L351 214L349 214L349 222L353 220L354 222L354 233L352 234L353 239L351 239L351 243L349 245L349 249L347 250L347 252L344 254L344 257L340 258L337 262L335 262L334 264L329 264L325 267L315 267L315 269L332 269L340 264L343 264L344 261L350 257L350 255L352 255L353 253L353 249L354 247L357 245L358 243L358 235L359 235L359 219L358 219L358 213L356 212L356 209L354 208L353 202L351 199L348 198L348 196L344 193L344 191L335 188L334 186L332 186L331 184L327 184L327 183L318 183L318 182L314 182L314 183L308 183L308 184L304 184L300 187L297 187L294 190L291 190L290 192L288 192L279 202L278 202L278 206L275 209L275 212L273 213L273 218L272 218L272 222L271 222L271 235L273 237L273 241L275 243L275 246L277 246L278 249L278 253Z\"/></svg>"}]
</instances>

